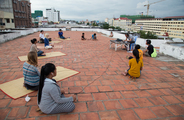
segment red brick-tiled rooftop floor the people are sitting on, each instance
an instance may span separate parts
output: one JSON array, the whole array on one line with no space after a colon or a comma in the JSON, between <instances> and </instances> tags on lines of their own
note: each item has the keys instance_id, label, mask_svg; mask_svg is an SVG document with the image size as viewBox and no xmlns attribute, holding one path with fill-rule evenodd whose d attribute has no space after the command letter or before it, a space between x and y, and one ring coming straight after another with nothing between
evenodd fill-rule
<instances>
[{"instance_id":1,"label":"red brick-tiled rooftop floor the people are sitting on","mask_svg":"<svg viewBox=\"0 0 184 120\"><path fill-rule=\"evenodd\" d=\"M48 33L56 40L57 32ZM80 74L58 82L67 96L83 90L77 94L75 110L69 114L40 114L35 111L37 92L31 93L31 101L26 103L25 97L12 100L0 91L0 120L184 119L183 62L162 62L144 57L141 77L134 82L121 75L122 71L128 69L126 56L131 53L109 49L111 38L100 33L97 33L97 41L81 41L81 33L65 31L64 35L72 40L55 44L52 50L42 48L45 52L61 51L66 56L39 60L39 68L52 62L56 66L80 71ZM85 32L86 38L92 34ZM17 56L26 55L31 46L30 40L38 38L38 35L34 33L0 44L0 84L23 77L24 62L20 62ZM93 80L96 81L90 84ZM86 85L89 86L85 88Z\"/></svg>"}]
</instances>

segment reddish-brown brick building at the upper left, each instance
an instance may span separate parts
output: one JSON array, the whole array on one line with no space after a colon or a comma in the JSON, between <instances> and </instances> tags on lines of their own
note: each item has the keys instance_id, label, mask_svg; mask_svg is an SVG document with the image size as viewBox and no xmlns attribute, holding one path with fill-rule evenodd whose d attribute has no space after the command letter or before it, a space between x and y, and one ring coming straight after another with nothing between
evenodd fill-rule
<instances>
[{"instance_id":1,"label":"reddish-brown brick building at the upper left","mask_svg":"<svg viewBox=\"0 0 184 120\"><path fill-rule=\"evenodd\" d=\"M30 0L12 0L15 28L31 27Z\"/></svg>"}]
</instances>

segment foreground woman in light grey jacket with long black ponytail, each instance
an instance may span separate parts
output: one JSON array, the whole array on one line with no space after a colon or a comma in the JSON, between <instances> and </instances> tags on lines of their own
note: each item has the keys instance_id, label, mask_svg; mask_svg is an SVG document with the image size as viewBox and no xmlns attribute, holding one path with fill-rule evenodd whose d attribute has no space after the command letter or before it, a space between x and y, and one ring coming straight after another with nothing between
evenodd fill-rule
<instances>
[{"instance_id":1,"label":"foreground woman in light grey jacket with long black ponytail","mask_svg":"<svg viewBox=\"0 0 184 120\"><path fill-rule=\"evenodd\" d=\"M52 63L47 63L41 68L37 103L41 112L45 114L69 113L75 109L73 102L76 101L76 96L64 96L64 90L60 90L53 79L56 73L56 67Z\"/></svg>"}]
</instances>

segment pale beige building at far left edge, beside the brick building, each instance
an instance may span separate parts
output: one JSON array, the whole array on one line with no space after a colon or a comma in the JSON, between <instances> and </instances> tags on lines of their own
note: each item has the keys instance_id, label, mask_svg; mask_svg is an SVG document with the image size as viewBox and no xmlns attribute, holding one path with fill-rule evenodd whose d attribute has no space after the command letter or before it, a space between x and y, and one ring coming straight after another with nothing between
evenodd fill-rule
<instances>
[{"instance_id":1,"label":"pale beige building at far left edge, beside the brick building","mask_svg":"<svg viewBox=\"0 0 184 120\"><path fill-rule=\"evenodd\" d=\"M0 0L0 29L15 28L12 0Z\"/></svg>"}]
</instances>

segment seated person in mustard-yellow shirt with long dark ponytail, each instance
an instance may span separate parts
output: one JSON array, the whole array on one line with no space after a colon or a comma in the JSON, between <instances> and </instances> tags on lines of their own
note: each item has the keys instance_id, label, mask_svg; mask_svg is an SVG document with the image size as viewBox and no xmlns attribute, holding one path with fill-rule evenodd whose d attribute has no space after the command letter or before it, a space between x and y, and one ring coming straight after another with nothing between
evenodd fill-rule
<instances>
[{"instance_id":1,"label":"seated person in mustard-yellow shirt with long dark ponytail","mask_svg":"<svg viewBox=\"0 0 184 120\"><path fill-rule=\"evenodd\" d=\"M141 75L141 70L143 68L143 61L139 58L139 51L137 49L133 50L133 56L129 60L129 69L123 73L123 75L130 75L130 77L138 78Z\"/></svg>"}]
</instances>

